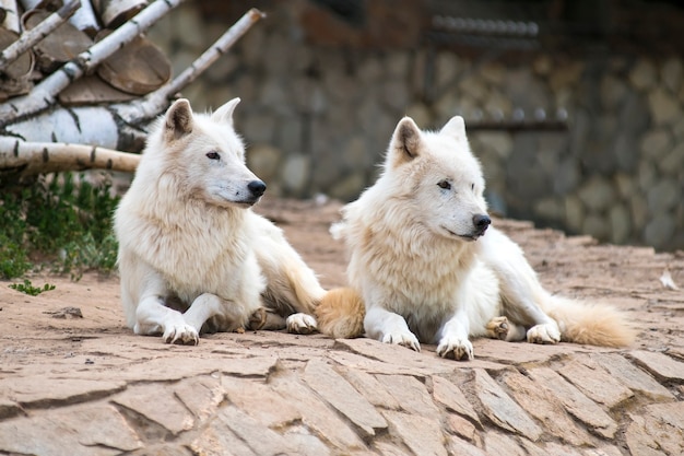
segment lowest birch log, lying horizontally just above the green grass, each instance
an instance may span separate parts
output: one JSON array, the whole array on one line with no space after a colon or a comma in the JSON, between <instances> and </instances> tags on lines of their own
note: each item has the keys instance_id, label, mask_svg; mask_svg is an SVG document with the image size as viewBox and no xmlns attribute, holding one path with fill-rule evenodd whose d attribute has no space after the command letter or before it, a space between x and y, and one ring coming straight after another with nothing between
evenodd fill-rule
<instances>
[{"instance_id":1,"label":"lowest birch log, lying horizontally just above the green grass","mask_svg":"<svg viewBox=\"0 0 684 456\"><path fill-rule=\"evenodd\" d=\"M3 176L28 177L83 169L132 173L139 162L139 154L94 145L24 142L15 138L0 138L0 185Z\"/></svg>"}]
</instances>

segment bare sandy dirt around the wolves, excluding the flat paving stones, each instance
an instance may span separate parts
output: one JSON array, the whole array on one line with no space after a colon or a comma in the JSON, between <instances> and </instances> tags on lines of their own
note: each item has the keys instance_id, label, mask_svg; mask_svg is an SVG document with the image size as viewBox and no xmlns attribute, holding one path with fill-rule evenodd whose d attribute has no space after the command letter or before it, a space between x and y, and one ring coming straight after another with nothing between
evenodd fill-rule
<instances>
[{"instance_id":1,"label":"bare sandy dirt around the wolves, excluding the flat paving stones","mask_svg":"<svg viewBox=\"0 0 684 456\"><path fill-rule=\"evenodd\" d=\"M345 283L342 244L328 232L330 223L339 219L341 206L338 201L264 198L256 210L280 225L323 287L333 288ZM549 290L613 303L633 313L641 330L635 348L672 350L679 354L671 355L684 359L684 348L677 347L684 340L684 292L665 288L660 279L669 271L672 281L684 289L684 253L598 245L588 236L534 230L529 222L495 220L494 224L523 247ZM0 365L20 360L39 364L40 359L63 355L72 343L70 334L78 338L130 334L116 274L86 273L78 282L56 276L31 280L34 285L50 283L56 289L32 297L9 289L11 282L1 283L0 334L14 343L0 352ZM78 308L83 317L70 314L68 307Z\"/></svg>"}]
</instances>

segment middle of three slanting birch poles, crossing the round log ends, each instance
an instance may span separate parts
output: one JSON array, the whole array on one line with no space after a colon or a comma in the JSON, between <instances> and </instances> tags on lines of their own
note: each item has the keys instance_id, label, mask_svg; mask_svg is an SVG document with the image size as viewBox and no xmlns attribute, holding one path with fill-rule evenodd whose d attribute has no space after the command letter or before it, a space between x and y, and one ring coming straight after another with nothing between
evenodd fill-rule
<instances>
[{"instance_id":1,"label":"middle of three slanting birch poles, crossing the round log ends","mask_svg":"<svg viewBox=\"0 0 684 456\"><path fill-rule=\"evenodd\" d=\"M0 105L0 127L27 118L54 105L57 94L72 81L81 78L120 47L133 40L181 1L156 0L103 40L95 43L89 50L45 78L30 94L11 98Z\"/></svg>"}]
</instances>

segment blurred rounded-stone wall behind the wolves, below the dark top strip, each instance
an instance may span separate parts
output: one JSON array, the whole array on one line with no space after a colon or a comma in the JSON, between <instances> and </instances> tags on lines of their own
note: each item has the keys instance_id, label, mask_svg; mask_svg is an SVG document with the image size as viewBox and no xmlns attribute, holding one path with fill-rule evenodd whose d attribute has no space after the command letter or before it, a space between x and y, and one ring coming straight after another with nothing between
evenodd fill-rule
<instances>
[{"instance_id":1,"label":"blurred rounded-stone wall behind the wolves, below the dark top strip","mask_svg":"<svg viewBox=\"0 0 684 456\"><path fill-rule=\"evenodd\" d=\"M426 45L323 46L298 20L310 5L283 3L184 91L196 109L243 100L236 126L270 192L354 199L406 114L423 128L456 114L467 127L561 118L567 131L470 133L492 208L605 242L684 248L681 56L540 51L509 62ZM229 25L190 1L150 36L178 73Z\"/></svg>"}]
</instances>

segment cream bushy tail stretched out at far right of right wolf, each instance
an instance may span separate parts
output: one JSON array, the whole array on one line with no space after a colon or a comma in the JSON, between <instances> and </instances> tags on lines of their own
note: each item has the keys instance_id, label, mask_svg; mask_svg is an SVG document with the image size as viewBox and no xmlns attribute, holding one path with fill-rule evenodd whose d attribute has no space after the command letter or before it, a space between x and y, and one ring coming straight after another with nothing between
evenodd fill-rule
<instances>
[{"instance_id":1,"label":"cream bushy tail stretched out at far right of right wolf","mask_svg":"<svg viewBox=\"0 0 684 456\"><path fill-rule=\"evenodd\" d=\"M567 342L599 347L627 347L636 329L624 313L609 304L590 304L566 297L550 296L545 308L558 321L562 339Z\"/></svg>"}]
</instances>

